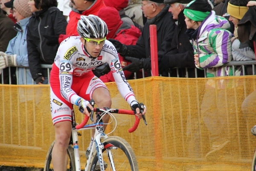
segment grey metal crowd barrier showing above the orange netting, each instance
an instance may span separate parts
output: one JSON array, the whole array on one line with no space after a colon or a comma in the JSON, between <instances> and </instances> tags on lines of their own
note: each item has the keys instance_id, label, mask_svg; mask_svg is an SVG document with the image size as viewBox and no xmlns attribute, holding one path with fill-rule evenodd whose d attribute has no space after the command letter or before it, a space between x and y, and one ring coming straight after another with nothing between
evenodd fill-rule
<instances>
[{"instance_id":1,"label":"grey metal crowd barrier showing above the orange netting","mask_svg":"<svg viewBox=\"0 0 256 171\"><path fill-rule=\"evenodd\" d=\"M235 67L236 66L242 66L242 73L243 73L243 75L255 75L255 65L256 65L256 60L250 60L250 61L231 61L231 62L228 62L227 64L225 64L224 66L232 66L232 68L233 68L233 75L235 75ZM50 70L52 68L52 65L51 64L41 64L41 67L42 68L47 68L47 73L48 73L48 78L49 78ZM247 73L247 71L246 71L247 67L251 68L251 70L250 70L251 72L250 73ZM17 72L17 68L16 68L16 77L19 78L19 74ZM28 68L28 67L24 67L24 68ZM188 68L186 68L186 75L189 75L187 69ZM176 70L177 70L177 77L180 77L179 69L176 68ZM198 69L195 68L195 77L196 78L198 77L197 76L197 70ZM206 77L206 70L204 70L204 71L205 71L204 75ZM25 72L26 71L24 70L24 73ZM11 74L10 73L11 73L11 70L10 70L10 67L9 67L9 84L12 84L12 82L11 82ZM26 73L24 75L26 75ZM143 75L143 78L145 78L144 70L142 70L142 75ZM3 79L4 79L3 78L3 74L0 74L0 78L1 78L1 83L3 83ZM137 79L136 73L134 73L134 78ZM187 78L188 78L188 76L187 76ZM25 78L25 79L27 79L27 78ZM19 84L18 79L17 79L17 84ZM35 84L35 82L34 82L34 84Z\"/></svg>"}]
</instances>

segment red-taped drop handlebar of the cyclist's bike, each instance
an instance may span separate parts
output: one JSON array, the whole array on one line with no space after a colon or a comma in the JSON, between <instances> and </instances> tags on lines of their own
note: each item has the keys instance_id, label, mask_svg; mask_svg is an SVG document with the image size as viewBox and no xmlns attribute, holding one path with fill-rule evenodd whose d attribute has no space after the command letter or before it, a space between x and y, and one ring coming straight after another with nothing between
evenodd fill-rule
<instances>
[{"instance_id":1,"label":"red-taped drop handlebar of the cyclist's bike","mask_svg":"<svg viewBox=\"0 0 256 171\"><path fill-rule=\"evenodd\" d=\"M102 110L105 110L105 109L94 107L94 110L92 111L92 113L93 112L102 112ZM125 110L125 109L110 109L109 113L119 113L119 114L134 115L136 113L136 111ZM134 122L133 127L131 127L128 130L129 133L134 132L138 128L138 125L140 123L140 119L137 116L135 116L135 118L136 118L136 120ZM88 122L88 120L89 120L89 116L85 115L84 120L81 122L81 124L76 125L76 129L79 130L79 129L83 128L84 125L86 125L86 123Z\"/></svg>"}]
</instances>

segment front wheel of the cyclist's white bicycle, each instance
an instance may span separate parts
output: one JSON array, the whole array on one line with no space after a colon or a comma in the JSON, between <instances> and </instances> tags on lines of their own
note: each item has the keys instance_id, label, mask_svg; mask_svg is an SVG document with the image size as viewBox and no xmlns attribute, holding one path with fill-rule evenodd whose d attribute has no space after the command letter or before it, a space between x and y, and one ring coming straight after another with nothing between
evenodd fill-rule
<instances>
[{"instance_id":1,"label":"front wheel of the cyclist's white bicycle","mask_svg":"<svg viewBox=\"0 0 256 171\"><path fill-rule=\"evenodd\" d=\"M139 171L137 160L132 150L131 146L125 139L119 136L111 136L105 139L103 142L104 149L102 149L103 161L108 164L105 171L112 171L111 164L108 159L108 155L105 147L111 144L114 145L116 149L112 149L113 161L116 171ZM96 166L98 162L97 151L95 150L92 155L92 159L89 164L89 171L100 171L99 165Z\"/></svg>"}]
</instances>

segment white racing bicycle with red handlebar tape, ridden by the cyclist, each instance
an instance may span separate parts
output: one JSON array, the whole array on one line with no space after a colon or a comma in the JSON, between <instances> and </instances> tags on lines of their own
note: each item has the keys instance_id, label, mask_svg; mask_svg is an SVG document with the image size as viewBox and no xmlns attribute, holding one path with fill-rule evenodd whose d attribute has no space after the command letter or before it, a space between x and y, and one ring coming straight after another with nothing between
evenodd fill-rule
<instances>
[{"instance_id":1,"label":"white racing bicycle with red handlebar tape, ridden by the cyclist","mask_svg":"<svg viewBox=\"0 0 256 171\"><path fill-rule=\"evenodd\" d=\"M91 100L90 104L94 107L94 101ZM144 110L144 104L139 105L141 113ZM89 109L87 107L87 109ZM79 109L83 110L83 109ZM89 109L90 110L90 109ZM88 111L89 111L88 110ZM90 112L90 111L89 111ZM80 157L79 157L79 143L78 143L78 131L80 130L90 130L95 129L95 135L93 144L88 156L84 171L105 171L106 166L109 171L138 171L137 160L132 150L131 146L125 139L119 136L107 136L112 133L115 128L108 134L104 133L102 117L105 114L109 114L112 120L115 119L112 113L129 114L134 115L133 110L123 110L123 109L110 109L110 108L95 108L90 112L90 120L93 121L93 113L96 113L96 122L94 124L86 125L89 117L85 115L84 120L81 124L77 124L75 120L74 109L72 110L72 135L70 137L70 145L67 148L68 154L68 165L67 170L69 171L81 171ZM143 120L145 125L145 116L143 115ZM110 122L111 123L111 122ZM128 131L130 133L134 132L140 123L140 119L136 117L135 123L132 128ZM44 171L52 171L52 148L55 141L49 147L47 157L45 160ZM108 164L105 165L104 162Z\"/></svg>"}]
</instances>

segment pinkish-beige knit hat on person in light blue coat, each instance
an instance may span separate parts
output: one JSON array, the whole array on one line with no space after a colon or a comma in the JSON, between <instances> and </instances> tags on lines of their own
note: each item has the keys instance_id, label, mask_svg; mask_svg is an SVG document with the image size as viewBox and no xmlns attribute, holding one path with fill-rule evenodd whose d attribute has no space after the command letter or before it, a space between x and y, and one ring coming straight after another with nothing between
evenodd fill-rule
<instances>
[{"instance_id":1,"label":"pinkish-beige knit hat on person in light blue coat","mask_svg":"<svg viewBox=\"0 0 256 171\"><path fill-rule=\"evenodd\" d=\"M29 0L14 0L13 7L23 17L30 17L32 12L28 4Z\"/></svg>"}]
</instances>

